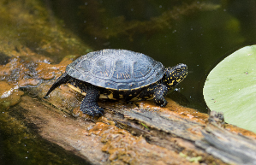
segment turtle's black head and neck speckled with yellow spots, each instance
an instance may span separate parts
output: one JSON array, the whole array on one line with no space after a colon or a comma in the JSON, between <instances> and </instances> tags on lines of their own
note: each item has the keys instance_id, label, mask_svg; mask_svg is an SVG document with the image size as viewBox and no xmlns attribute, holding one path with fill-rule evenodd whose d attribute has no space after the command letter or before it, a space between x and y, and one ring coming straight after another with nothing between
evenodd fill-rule
<instances>
[{"instance_id":1,"label":"turtle's black head and neck speckled with yellow spots","mask_svg":"<svg viewBox=\"0 0 256 165\"><path fill-rule=\"evenodd\" d=\"M179 84L188 75L188 66L180 63L174 67L165 68L163 82L167 85L168 89L172 89L175 85Z\"/></svg>"}]
</instances>

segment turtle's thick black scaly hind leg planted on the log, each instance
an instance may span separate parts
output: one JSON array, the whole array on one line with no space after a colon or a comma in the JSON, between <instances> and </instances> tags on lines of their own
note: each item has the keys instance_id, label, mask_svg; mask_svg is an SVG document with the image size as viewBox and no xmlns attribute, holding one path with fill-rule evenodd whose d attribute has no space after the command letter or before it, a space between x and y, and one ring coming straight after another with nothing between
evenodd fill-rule
<instances>
[{"instance_id":1,"label":"turtle's thick black scaly hind leg planted on the log","mask_svg":"<svg viewBox=\"0 0 256 165\"><path fill-rule=\"evenodd\" d=\"M100 108L97 103L99 98L98 88L93 85L87 85L86 88L86 97L80 103L80 110L86 115L100 117L103 115L104 109Z\"/></svg>"}]
</instances>

